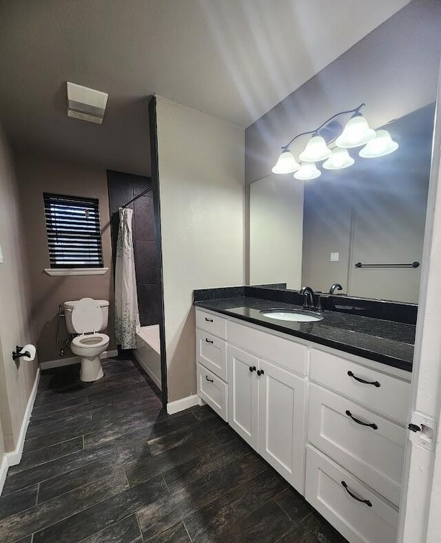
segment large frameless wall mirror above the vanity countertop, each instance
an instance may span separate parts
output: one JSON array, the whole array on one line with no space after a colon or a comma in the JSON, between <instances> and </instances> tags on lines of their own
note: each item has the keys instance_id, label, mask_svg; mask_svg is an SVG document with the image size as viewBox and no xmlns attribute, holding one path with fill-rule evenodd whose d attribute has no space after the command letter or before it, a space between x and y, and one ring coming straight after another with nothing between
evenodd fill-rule
<instances>
[{"instance_id":1,"label":"large frameless wall mirror above the vanity countertop","mask_svg":"<svg viewBox=\"0 0 441 543\"><path fill-rule=\"evenodd\" d=\"M431 104L387 123L399 144L387 156L350 149L347 169L252 183L249 284L328 292L339 283L336 294L418 303L420 266L396 265L422 260L434 112Z\"/></svg>"}]
</instances>

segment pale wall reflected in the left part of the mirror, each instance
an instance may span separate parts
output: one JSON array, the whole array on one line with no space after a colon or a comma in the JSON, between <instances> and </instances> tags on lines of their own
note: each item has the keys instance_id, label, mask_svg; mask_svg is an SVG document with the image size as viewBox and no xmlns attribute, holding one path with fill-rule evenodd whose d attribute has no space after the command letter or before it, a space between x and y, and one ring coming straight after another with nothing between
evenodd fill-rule
<instances>
[{"instance_id":1,"label":"pale wall reflected in the left part of the mirror","mask_svg":"<svg viewBox=\"0 0 441 543\"><path fill-rule=\"evenodd\" d=\"M302 287L303 187L292 175L274 174L250 185L250 285Z\"/></svg>"}]
</instances>

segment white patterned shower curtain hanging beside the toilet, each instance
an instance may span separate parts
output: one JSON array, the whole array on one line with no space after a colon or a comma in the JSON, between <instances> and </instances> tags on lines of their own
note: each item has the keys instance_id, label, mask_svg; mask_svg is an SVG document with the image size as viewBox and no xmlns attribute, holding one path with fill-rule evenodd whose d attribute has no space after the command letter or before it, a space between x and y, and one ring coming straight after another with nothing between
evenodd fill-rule
<instances>
[{"instance_id":1,"label":"white patterned shower curtain hanging beside the toilet","mask_svg":"<svg viewBox=\"0 0 441 543\"><path fill-rule=\"evenodd\" d=\"M132 239L132 209L119 209L115 265L115 339L123 349L136 349L138 295Z\"/></svg>"}]
</instances>

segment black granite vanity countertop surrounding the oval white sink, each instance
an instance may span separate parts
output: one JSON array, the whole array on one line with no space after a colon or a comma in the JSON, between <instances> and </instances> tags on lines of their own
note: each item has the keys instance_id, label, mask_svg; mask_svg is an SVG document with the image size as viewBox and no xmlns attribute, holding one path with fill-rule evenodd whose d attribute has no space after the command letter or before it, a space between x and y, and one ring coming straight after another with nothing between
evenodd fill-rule
<instances>
[{"instance_id":1,"label":"black granite vanity countertop surrounding the oval white sink","mask_svg":"<svg viewBox=\"0 0 441 543\"><path fill-rule=\"evenodd\" d=\"M272 308L301 310L302 307L245 296L195 301L194 305L407 372L412 371L416 327L411 324L337 311L322 312L323 320L316 322L276 321L264 317L260 311Z\"/></svg>"}]
</instances>

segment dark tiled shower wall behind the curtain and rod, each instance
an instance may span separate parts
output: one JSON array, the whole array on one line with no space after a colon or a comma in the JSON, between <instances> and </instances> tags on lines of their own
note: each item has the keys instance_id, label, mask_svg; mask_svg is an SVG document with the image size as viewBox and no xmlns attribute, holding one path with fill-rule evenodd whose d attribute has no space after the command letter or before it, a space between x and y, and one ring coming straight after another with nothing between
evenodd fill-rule
<instances>
[{"instance_id":1,"label":"dark tiled shower wall behind the curtain and rod","mask_svg":"<svg viewBox=\"0 0 441 543\"><path fill-rule=\"evenodd\" d=\"M115 264L118 237L119 208L152 184L151 178L120 171L107 170L112 259ZM128 207L133 209L132 231L135 255L136 288L138 289L139 320L141 326L158 324L161 294L156 244L154 237L154 209L152 193L141 196Z\"/></svg>"}]
</instances>

